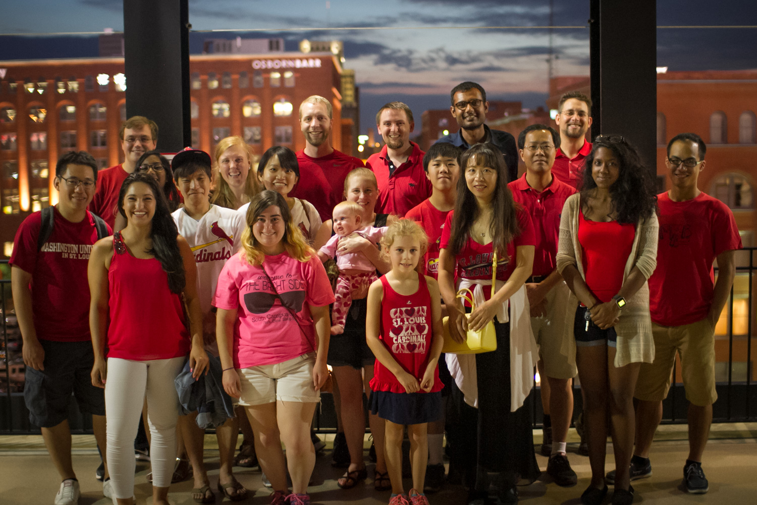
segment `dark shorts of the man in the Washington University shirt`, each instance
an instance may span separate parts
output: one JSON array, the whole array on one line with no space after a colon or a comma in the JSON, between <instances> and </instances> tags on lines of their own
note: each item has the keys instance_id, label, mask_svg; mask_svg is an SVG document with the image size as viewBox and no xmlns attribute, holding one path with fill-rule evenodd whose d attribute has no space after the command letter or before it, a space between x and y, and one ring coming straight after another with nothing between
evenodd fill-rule
<instances>
[{"instance_id":1,"label":"dark shorts of the man in the Washington University shirt","mask_svg":"<svg viewBox=\"0 0 757 505\"><path fill-rule=\"evenodd\" d=\"M79 411L105 415L103 388L92 385L95 355L92 342L39 340L45 350L44 370L26 366L23 401L29 409L29 422L40 428L58 426L68 419L71 394Z\"/></svg>"}]
</instances>

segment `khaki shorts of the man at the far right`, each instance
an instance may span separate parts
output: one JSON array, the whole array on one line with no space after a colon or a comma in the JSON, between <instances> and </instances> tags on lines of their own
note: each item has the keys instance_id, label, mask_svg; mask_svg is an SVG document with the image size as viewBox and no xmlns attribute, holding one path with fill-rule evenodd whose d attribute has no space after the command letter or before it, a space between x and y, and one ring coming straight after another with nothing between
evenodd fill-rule
<instances>
[{"instance_id":1,"label":"khaki shorts of the man at the far right","mask_svg":"<svg viewBox=\"0 0 757 505\"><path fill-rule=\"evenodd\" d=\"M715 329L704 319L682 326L652 323L655 360L641 363L634 397L662 401L668 396L675 353L681 356L686 399L705 407L718 399L715 392Z\"/></svg>"}]
</instances>

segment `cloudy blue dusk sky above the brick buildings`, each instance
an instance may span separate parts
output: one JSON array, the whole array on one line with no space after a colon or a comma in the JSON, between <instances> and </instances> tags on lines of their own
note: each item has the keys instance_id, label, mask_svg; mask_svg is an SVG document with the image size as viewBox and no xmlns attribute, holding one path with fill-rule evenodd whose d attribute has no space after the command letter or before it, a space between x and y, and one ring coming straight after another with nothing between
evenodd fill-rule
<instances>
[{"instance_id":1,"label":"cloudy blue dusk sky above the brick buildings","mask_svg":"<svg viewBox=\"0 0 757 505\"><path fill-rule=\"evenodd\" d=\"M657 3L658 26L757 25L757 2ZM589 2L555 0L554 5L555 25L581 26L553 30L554 73L587 75ZM528 108L544 105L547 98L548 31L480 26L547 25L548 0L190 0L189 19L193 30L266 30L192 33L193 53L201 51L206 38L283 37L291 51L305 38L344 41L344 66L356 71L360 86L363 132L387 101L405 101L418 119L426 109L447 108L449 90L463 80L481 83L491 99L521 100ZM376 26L391 30L334 30ZM13 0L4 2L0 17L0 33L34 36L104 28L123 30L121 0ZM307 30L276 31L292 28ZM657 35L658 64L670 70L757 68L755 28L659 29ZM92 37L0 36L0 60L96 55L97 40Z\"/></svg>"}]
</instances>

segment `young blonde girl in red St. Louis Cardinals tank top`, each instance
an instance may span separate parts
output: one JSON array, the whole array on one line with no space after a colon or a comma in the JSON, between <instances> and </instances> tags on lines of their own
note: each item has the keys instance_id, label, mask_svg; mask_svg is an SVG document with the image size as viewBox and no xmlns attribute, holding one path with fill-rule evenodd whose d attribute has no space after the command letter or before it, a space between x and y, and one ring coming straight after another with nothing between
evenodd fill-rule
<instances>
[{"instance_id":1,"label":"young blonde girl in red St. Louis Cardinals tank top","mask_svg":"<svg viewBox=\"0 0 757 505\"><path fill-rule=\"evenodd\" d=\"M428 239L419 224L399 220L382 238L391 270L368 291L366 340L375 354L372 413L386 421L385 456L390 505L428 505L423 490L426 428L441 412L441 296L435 279L419 273ZM421 263L419 265L419 263ZM402 486L402 439L407 426L413 489ZM420 491L416 491L420 490Z\"/></svg>"}]
</instances>

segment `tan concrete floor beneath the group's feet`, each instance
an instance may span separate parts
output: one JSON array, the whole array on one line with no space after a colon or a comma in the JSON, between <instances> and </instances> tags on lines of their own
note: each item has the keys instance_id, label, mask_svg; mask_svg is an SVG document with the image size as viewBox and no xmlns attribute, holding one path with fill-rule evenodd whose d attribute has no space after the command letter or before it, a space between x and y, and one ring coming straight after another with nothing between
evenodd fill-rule
<instances>
[{"instance_id":1,"label":"tan concrete floor beneath the group's feet","mask_svg":"<svg viewBox=\"0 0 757 505\"><path fill-rule=\"evenodd\" d=\"M682 431L684 430L684 431ZM323 435L322 435L323 436ZM332 441L333 435L325 435L326 441ZM534 441L540 442L540 430L534 432ZM569 450L575 450L578 437L572 431ZM217 484L218 460L213 457L215 437L207 436L206 464L209 469L211 486ZM366 449L369 442L366 437ZM608 454L612 447L608 445ZM95 469L99 457L94 448L93 438L88 435L76 435L73 441L74 468L78 472L82 497L80 505L109 505L110 500L102 496L102 485L95 480ZM653 475L649 479L634 482L636 498L634 503L651 505L675 505L678 503L757 503L757 423L730 423L713 426L712 437L706 452L704 469L710 482L708 494L689 495L681 487L684 460L687 457L685 426L662 426L651 455ZM546 474L534 484L519 488L521 503L528 505L578 505L579 497L589 482L589 461L587 457L569 454L573 469L578 473L578 485L574 488L559 488L551 484ZM537 456L540 467L544 470L547 458ZM366 450L367 461L367 450ZM315 505L335 505L337 503L356 503L359 505L378 505L388 503L388 491L373 491L372 468L369 479L350 490L339 489L335 479L344 472L334 469L329 464L330 453L319 457L314 472L315 483L310 488L310 497ZM149 471L147 463L137 463L135 496L137 503L152 503L151 485L145 480ZM369 463L369 467L372 465ZM607 469L612 469L612 457L608 459ZM236 468L238 480L251 492L240 503L267 504L269 490L260 481L259 469ZM2 436L0 437L0 503L2 505L22 505L26 503L52 503L59 477L50 463L47 452L39 436ZM408 482L409 484L409 482ZM179 482L171 486L169 499L174 505L195 503L189 494L192 481ZM610 490L612 494L612 489ZM216 503L222 503L221 495L216 491ZM459 486L447 486L437 494L429 495L431 505L463 505L466 493ZM223 500L229 503L229 500ZM609 503L609 496L606 503Z\"/></svg>"}]
</instances>

